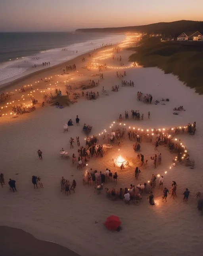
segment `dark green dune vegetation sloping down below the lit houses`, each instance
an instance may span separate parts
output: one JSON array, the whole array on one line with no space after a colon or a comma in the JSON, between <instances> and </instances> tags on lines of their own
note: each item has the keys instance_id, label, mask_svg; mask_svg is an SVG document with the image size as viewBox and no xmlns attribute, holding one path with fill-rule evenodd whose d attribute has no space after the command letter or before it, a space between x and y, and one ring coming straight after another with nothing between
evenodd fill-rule
<instances>
[{"instance_id":1,"label":"dark green dune vegetation sloping down below the lit houses","mask_svg":"<svg viewBox=\"0 0 203 256\"><path fill-rule=\"evenodd\" d=\"M161 41L158 37L143 37L130 62L144 67L158 67L165 74L178 76L186 86L203 94L203 42Z\"/></svg>"}]
</instances>

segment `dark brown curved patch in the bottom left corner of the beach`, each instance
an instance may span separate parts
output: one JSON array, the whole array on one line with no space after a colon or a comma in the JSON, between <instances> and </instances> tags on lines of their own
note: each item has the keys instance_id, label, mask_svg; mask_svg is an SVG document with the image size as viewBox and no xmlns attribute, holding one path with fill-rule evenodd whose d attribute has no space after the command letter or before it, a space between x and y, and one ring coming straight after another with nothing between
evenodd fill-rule
<instances>
[{"instance_id":1,"label":"dark brown curved patch in the bottom left corner of the beach","mask_svg":"<svg viewBox=\"0 0 203 256\"><path fill-rule=\"evenodd\" d=\"M0 226L0 233L1 256L79 256L54 242L38 240L22 229Z\"/></svg>"}]
</instances>

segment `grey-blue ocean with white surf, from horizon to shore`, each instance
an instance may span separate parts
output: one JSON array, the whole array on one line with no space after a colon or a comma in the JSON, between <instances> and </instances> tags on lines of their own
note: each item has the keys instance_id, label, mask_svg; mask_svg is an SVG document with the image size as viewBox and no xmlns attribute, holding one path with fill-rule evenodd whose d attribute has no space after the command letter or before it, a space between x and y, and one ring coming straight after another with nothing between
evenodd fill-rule
<instances>
[{"instance_id":1,"label":"grey-blue ocean with white surf, from horizon to shore","mask_svg":"<svg viewBox=\"0 0 203 256\"><path fill-rule=\"evenodd\" d=\"M123 39L124 35L105 33L0 33L0 84L42 69L42 62L54 66Z\"/></svg>"}]
</instances>

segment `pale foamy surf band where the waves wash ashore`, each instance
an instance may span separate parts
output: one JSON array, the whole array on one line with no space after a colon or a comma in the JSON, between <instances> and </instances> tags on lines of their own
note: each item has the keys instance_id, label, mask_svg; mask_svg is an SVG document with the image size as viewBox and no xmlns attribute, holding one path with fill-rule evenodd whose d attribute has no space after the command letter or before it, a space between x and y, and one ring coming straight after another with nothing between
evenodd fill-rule
<instances>
[{"instance_id":1,"label":"pale foamy surf band where the waves wash ashore","mask_svg":"<svg viewBox=\"0 0 203 256\"><path fill-rule=\"evenodd\" d=\"M49 49L40 51L36 55L26 56L15 60L7 61L0 64L0 85L11 82L26 74L43 69L42 62L50 62L50 66L62 63L67 60L92 51L98 48L102 43L119 43L124 39L124 35L107 35L100 39L86 41L82 43L74 43L63 48ZM66 49L66 51L62 51ZM78 53L73 54L74 51ZM36 59L39 58L39 59ZM36 68L32 68L36 64ZM19 67L18 67L19 66ZM2 87L2 86L0 86Z\"/></svg>"}]
</instances>

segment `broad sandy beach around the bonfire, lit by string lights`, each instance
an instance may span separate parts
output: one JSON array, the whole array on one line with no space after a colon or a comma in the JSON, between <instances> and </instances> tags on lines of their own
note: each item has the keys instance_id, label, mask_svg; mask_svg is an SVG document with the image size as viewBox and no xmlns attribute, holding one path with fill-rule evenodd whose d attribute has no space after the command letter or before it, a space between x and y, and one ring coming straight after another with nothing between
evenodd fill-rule
<instances>
[{"instance_id":1,"label":"broad sandy beach around the bonfire, lit by string lights","mask_svg":"<svg viewBox=\"0 0 203 256\"><path fill-rule=\"evenodd\" d=\"M187 88L171 74L163 74L157 68L142 68L130 66L128 57L132 53L125 48L132 44L130 38L126 39L120 46L122 51L114 49L115 46L98 49L94 57L86 57L86 62L82 62L82 57L74 59L69 63L75 63L77 71L70 72L61 76L60 66L48 69L44 72L32 74L23 78L10 87L8 92L14 92L14 96L7 101L20 102L25 98L25 104L31 104L29 91L19 91L22 85L33 84L32 93L38 100L36 110L31 113L25 113L13 118L10 115L11 107L6 108L6 103L1 103L3 107L0 117L0 137L1 137L1 172L4 173L6 185L0 188L1 193L1 211L0 225L12 228L22 229L40 240L52 241L67 247L81 256L122 256L122 255L177 255L192 256L202 255L201 240L203 230L201 227L202 216L197 211L197 199L193 196L197 191L202 190L202 145L203 145L203 96ZM111 49L113 48L113 49ZM112 54L112 55L109 55ZM112 59L113 55L122 57L124 68L121 69L119 61ZM108 70L102 70L103 78L92 76L100 74L98 69L87 70L83 67L89 66L90 61L95 58L95 62L107 64ZM96 59L98 58L98 59ZM63 64L64 65L64 64ZM62 66L61 66L62 67ZM64 67L64 66L63 66ZM113 68L112 68L113 67ZM118 69L117 69L118 68ZM134 81L134 87L121 86L121 80L117 77L116 72L126 71L124 80ZM58 76L60 75L60 76ZM52 76L52 78L51 78ZM50 77L50 82L44 82L45 78ZM43 78L43 81L40 80ZM80 96L77 103L70 104L69 107L58 109L49 104L41 107L43 92L50 91L55 94L55 88L60 88L62 95L66 95L65 84L77 86L88 84L87 81L100 80L100 85L92 88L93 91L99 92L96 100L86 100L86 97ZM38 83L38 81L40 81ZM36 82L36 83L35 83ZM58 83L57 83L58 82ZM51 84L47 86L47 84ZM74 85L75 84L75 85ZM118 92L112 92L111 87L119 85ZM102 88L109 91L102 94ZM49 90L50 88L50 90ZM38 90L37 90L38 89ZM17 94L16 92L20 93ZM88 91L90 92L91 89ZM6 92L1 90L0 93ZM34 92L35 91L35 92ZM42 92L41 92L42 91ZM151 94L153 96L152 104L144 104L137 100L137 92ZM74 91L72 90L72 93ZM75 92L81 90L76 89ZM85 91L84 91L85 92ZM25 95L25 96L22 96ZM165 105L155 105L155 100L169 98ZM73 100L73 96L70 95ZM179 115L173 115L174 107L184 106L186 111L181 111ZM10 108L10 109L8 109ZM8 110L7 110L8 109ZM131 119L130 110L139 110L144 113L144 120L135 121ZM124 119L124 111L128 110L129 119ZM151 118L147 118L150 111ZM8 113L8 115L6 115ZM123 122L119 125L119 115L123 115ZM76 115L79 115L80 126L75 123ZM73 120L73 126L69 127L68 132L63 133L63 124L69 119ZM59 151L64 148L78 157L76 137L80 137L80 145L85 146L86 136L82 131L83 124L92 125L90 135L97 135L99 144L103 143L103 134L105 130L111 132L111 129L126 127L136 127L139 129L169 129L172 127L186 126L188 123L197 122L197 132L194 136L188 133L179 134L174 138L181 139L182 143L188 149L190 157L195 160L195 168L190 169L185 164L176 164L171 166L172 158L176 154L170 154L169 149L163 145L159 146L159 152L162 154L162 162L153 168L153 161L150 159L154 151L152 143L143 142L141 144L141 153L144 154L145 160L148 160L149 168L140 167L141 174L138 180L135 180L134 169L136 167L136 154L132 149L133 141L129 141L127 136L119 148L113 144L113 148L105 154L103 158L93 157L88 162L88 166L82 170L77 169L77 164L72 165L70 159L61 158ZM115 122L115 123L113 123ZM113 126L112 126L113 124ZM124 126L125 124L125 126ZM111 126L111 128L110 128ZM132 128L131 128L132 129ZM103 133L103 134L102 134ZM100 135L99 135L100 134ZM74 149L70 149L69 139L75 139ZM155 142L156 137L153 137ZM37 155L37 150L43 152L43 160ZM120 149L118 151L118 149ZM120 153L121 152L121 153ZM121 170L118 166L113 166L112 158L122 154L128 161L129 166ZM158 186L153 189L155 205L149 205L147 195L144 195L139 206L133 203L124 204L120 199L117 201L109 200L105 195L105 190L100 195L95 192L94 186L83 185L82 176L86 170L98 170L104 172L109 168L111 172L118 173L117 185L114 182L108 182L104 188L115 187L129 188L130 184L135 186L139 183L144 184L150 180L151 175L160 174L164 176L164 187L171 188L173 180L178 184L177 197L173 200L168 196L167 203L163 203L163 192L158 190ZM166 173L165 173L166 172ZM44 188L33 188L31 177L40 176ZM61 176L72 182L77 182L75 193L71 192L68 197L60 189ZM16 181L17 192L9 191L9 178ZM157 178L158 184L158 178ZM185 188L190 190L190 197L187 203L183 203L182 193ZM109 215L117 215L122 222L123 230L121 232L108 231L103 223ZM10 242L4 249L11 254L2 255L23 255L12 253L11 244L15 244L15 236L24 239L22 231L14 232L15 236L10 236L7 228L0 227L2 236L6 234L5 240L0 240L0 248L3 242ZM26 242L25 242L26 244ZM25 245L26 246L26 245ZM43 244L42 246L46 246ZM49 247L49 246L48 246ZM17 248L17 247L16 247ZM16 250L24 250L23 245ZM61 248L55 255L63 255ZM61 250L61 253L60 253ZM69 254L69 253L68 253ZM30 254L32 255L32 254ZM40 254L37 255L53 255ZM69 254L75 255L75 254Z\"/></svg>"}]
</instances>

